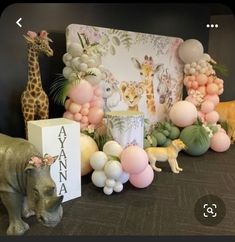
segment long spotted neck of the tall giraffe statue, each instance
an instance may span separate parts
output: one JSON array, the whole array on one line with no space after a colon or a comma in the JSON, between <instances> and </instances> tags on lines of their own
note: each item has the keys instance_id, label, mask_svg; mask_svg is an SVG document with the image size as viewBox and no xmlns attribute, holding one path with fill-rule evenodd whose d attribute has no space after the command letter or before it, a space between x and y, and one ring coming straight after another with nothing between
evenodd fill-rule
<instances>
[{"instance_id":1,"label":"long spotted neck of the tall giraffe statue","mask_svg":"<svg viewBox=\"0 0 235 242\"><path fill-rule=\"evenodd\" d=\"M39 95L42 90L38 52L32 46L28 47L28 82L26 90L33 96Z\"/></svg>"}]
</instances>

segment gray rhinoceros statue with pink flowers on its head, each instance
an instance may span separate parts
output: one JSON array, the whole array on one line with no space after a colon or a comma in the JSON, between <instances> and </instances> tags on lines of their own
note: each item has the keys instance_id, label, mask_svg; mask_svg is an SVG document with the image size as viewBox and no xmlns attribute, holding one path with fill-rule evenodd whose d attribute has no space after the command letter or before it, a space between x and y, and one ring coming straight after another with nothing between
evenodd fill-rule
<instances>
[{"instance_id":1,"label":"gray rhinoceros statue with pink flowers on its head","mask_svg":"<svg viewBox=\"0 0 235 242\"><path fill-rule=\"evenodd\" d=\"M7 235L22 235L29 229L22 216L36 215L48 227L60 222L63 196L57 197L50 175L56 159L41 157L25 139L0 134L0 199L9 215Z\"/></svg>"}]
</instances>

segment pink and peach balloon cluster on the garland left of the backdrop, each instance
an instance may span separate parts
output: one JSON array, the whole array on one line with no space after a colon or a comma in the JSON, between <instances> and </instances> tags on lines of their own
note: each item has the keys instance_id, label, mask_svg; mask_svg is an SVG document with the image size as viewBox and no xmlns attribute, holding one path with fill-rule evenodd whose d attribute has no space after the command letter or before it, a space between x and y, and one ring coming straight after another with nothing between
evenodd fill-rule
<instances>
[{"instance_id":1,"label":"pink and peach balloon cluster on the garland left of the backdrop","mask_svg":"<svg viewBox=\"0 0 235 242\"><path fill-rule=\"evenodd\" d=\"M65 102L66 112L63 117L80 122L81 130L93 124L98 125L104 116L102 90L82 80L71 86L69 99Z\"/></svg>"}]
</instances>

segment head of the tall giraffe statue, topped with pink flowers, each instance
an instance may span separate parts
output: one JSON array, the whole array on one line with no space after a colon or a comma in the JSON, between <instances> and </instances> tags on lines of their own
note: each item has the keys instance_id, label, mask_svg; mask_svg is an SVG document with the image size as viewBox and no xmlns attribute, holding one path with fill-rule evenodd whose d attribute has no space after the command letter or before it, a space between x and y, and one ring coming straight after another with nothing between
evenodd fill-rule
<instances>
[{"instance_id":1,"label":"head of the tall giraffe statue, topped with pink flowers","mask_svg":"<svg viewBox=\"0 0 235 242\"><path fill-rule=\"evenodd\" d=\"M51 49L49 43L52 42L48 38L48 33L42 30L39 34L28 31L27 35L24 35L28 45L37 53L44 53L47 56L53 56L53 50Z\"/></svg>"}]
</instances>

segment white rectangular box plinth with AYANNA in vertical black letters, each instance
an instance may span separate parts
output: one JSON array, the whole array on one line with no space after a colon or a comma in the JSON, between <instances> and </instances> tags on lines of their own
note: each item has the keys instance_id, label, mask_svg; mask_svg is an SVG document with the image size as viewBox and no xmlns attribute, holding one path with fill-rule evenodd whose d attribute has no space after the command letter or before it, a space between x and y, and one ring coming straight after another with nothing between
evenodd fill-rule
<instances>
[{"instance_id":1,"label":"white rectangular box plinth with AYANNA in vertical black letters","mask_svg":"<svg viewBox=\"0 0 235 242\"><path fill-rule=\"evenodd\" d=\"M80 124L65 118L29 121L28 140L42 155L58 155L51 177L63 202L80 197Z\"/></svg>"}]
</instances>

